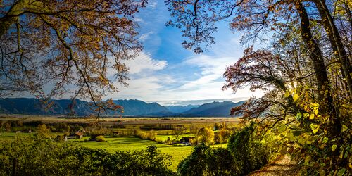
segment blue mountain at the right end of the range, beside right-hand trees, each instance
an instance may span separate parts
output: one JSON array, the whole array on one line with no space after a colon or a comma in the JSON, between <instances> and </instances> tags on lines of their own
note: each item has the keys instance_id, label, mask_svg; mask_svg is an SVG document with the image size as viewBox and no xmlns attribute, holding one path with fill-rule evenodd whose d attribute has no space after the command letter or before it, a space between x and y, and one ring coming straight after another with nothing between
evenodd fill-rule
<instances>
[{"instance_id":1,"label":"blue mountain at the right end of the range, beside right-hand trees","mask_svg":"<svg viewBox=\"0 0 352 176\"><path fill-rule=\"evenodd\" d=\"M231 108L241 106L245 101L234 103L232 101L205 103L198 108L191 108L189 111L180 113L180 116L189 117L229 117Z\"/></svg>"}]
</instances>

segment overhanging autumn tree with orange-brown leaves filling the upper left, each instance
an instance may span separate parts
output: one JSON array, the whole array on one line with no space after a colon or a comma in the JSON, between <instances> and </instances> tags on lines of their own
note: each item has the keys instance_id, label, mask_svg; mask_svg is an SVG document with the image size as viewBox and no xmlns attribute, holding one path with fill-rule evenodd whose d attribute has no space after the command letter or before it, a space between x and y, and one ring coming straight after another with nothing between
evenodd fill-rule
<instances>
[{"instance_id":1,"label":"overhanging autumn tree with orange-brown leaves filling the upper left","mask_svg":"<svg viewBox=\"0 0 352 176\"><path fill-rule=\"evenodd\" d=\"M72 99L91 99L100 112L102 96L118 91L114 82L127 85L122 61L142 49L132 19L145 3L0 1L1 93L28 91L38 98L70 93Z\"/></svg>"}]
</instances>

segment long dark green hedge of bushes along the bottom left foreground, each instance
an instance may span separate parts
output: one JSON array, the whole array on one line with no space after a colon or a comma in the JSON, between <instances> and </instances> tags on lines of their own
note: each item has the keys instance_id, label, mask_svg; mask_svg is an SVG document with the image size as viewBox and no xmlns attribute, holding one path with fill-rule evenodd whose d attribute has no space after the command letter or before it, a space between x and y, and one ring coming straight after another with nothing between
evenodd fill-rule
<instances>
[{"instance_id":1,"label":"long dark green hedge of bushes along the bottom left foreground","mask_svg":"<svg viewBox=\"0 0 352 176\"><path fill-rule=\"evenodd\" d=\"M172 175L170 156L149 146L109 153L69 142L17 137L0 142L0 175Z\"/></svg>"}]
</instances>

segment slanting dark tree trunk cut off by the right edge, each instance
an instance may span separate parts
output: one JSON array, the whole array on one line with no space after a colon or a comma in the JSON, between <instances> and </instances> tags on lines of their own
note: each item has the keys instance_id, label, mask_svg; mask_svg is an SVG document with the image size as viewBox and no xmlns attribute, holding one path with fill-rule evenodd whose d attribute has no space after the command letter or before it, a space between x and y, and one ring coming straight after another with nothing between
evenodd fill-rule
<instances>
[{"instance_id":1,"label":"slanting dark tree trunk cut off by the right edge","mask_svg":"<svg viewBox=\"0 0 352 176\"><path fill-rule=\"evenodd\" d=\"M339 31L337 30L337 27L334 23L334 20L332 19L327 5L325 4L325 1L316 0L315 5L317 6L320 17L322 18L322 24L327 31L327 35L329 37L330 44L332 45L332 49L334 50L334 54L337 56L337 58L339 58L339 61L341 62L341 68L343 71L342 74L344 74L344 78L346 78L346 83L348 86L347 89L349 91L350 97L352 97L352 77L350 75L352 73L352 65L349 61L346 50L344 49Z\"/></svg>"}]
</instances>

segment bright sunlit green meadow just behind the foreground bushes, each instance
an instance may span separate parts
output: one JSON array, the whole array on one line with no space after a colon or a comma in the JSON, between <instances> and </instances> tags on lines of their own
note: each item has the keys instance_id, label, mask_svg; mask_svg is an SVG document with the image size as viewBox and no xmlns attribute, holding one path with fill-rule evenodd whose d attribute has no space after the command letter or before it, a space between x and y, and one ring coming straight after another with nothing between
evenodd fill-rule
<instances>
[{"instance_id":1,"label":"bright sunlit green meadow just behind the foreground bushes","mask_svg":"<svg viewBox=\"0 0 352 176\"><path fill-rule=\"evenodd\" d=\"M146 149L146 146L155 145L161 153L172 156L171 170L176 170L178 163L183 158L189 156L193 151L193 146L173 146L167 144L160 144L150 140L139 139L137 137L106 137L108 142L83 142L84 139L89 137L83 137L82 139L75 139L75 142L79 142L82 146L86 146L92 149L106 149L109 152L115 151L134 151L140 149Z\"/></svg>"}]
</instances>

